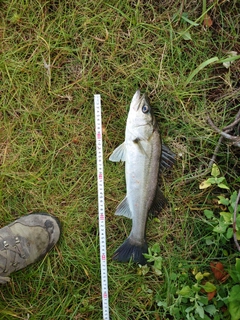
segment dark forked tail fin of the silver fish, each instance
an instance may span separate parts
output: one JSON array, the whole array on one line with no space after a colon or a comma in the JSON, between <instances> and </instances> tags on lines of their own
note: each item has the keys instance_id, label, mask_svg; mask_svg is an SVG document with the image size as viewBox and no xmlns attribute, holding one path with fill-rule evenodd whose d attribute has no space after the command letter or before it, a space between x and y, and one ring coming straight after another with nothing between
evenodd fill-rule
<instances>
[{"instance_id":1,"label":"dark forked tail fin of the silver fish","mask_svg":"<svg viewBox=\"0 0 240 320\"><path fill-rule=\"evenodd\" d=\"M128 237L124 243L114 252L113 260L119 262L133 261L144 265L147 263L143 253L148 252L147 241L144 240L143 244L139 244L130 237Z\"/></svg>"}]
</instances>

